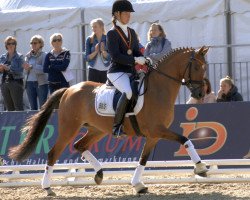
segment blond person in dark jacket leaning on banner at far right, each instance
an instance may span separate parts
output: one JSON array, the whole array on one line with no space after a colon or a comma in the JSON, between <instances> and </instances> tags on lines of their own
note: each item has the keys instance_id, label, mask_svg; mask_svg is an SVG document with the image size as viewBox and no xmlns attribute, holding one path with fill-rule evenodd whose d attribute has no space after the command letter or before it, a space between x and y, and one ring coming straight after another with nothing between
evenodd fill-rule
<instances>
[{"instance_id":1,"label":"blond person in dark jacket leaning on banner at far right","mask_svg":"<svg viewBox=\"0 0 250 200\"><path fill-rule=\"evenodd\" d=\"M233 80L226 76L220 80L220 90L218 91L217 102L243 101L238 88L234 85Z\"/></svg>"}]
</instances>

